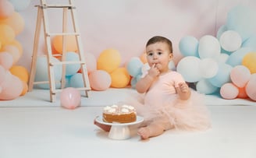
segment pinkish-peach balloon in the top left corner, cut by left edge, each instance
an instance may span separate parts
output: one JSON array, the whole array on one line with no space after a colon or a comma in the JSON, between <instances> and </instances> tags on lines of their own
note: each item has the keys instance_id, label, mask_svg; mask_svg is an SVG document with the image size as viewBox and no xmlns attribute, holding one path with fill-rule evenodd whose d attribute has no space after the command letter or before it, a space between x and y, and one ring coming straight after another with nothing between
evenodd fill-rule
<instances>
[{"instance_id":1,"label":"pinkish-peach balloon in the top left corner, cut by left edge","mask_svg":"<svg viewBox=\"0 0 256 158\"><path fill-rule=\"evenodd\" d=\"M14 12L14 7L9 1L0 1L0 19L8 18Z\"/></svg>"}]
</instances>

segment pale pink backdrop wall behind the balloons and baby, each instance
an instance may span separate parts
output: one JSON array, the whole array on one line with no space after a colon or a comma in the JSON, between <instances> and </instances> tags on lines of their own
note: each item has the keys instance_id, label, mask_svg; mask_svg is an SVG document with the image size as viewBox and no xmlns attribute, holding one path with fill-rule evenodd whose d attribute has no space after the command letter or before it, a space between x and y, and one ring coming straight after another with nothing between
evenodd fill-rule
<instances>
[{"instance_id":1,"label":"pale pink backdrop wall behind the balloons and baby","mask_svg":"<svg viewBox=\"0 0 256 158\"><path fill-rule=\"evenodd\" d=\"M48 3L61 4L65 0ZM25 28L16 38L23 45L23 56L17 65L30 69L34 44L37 8L40 0L20 12ZM98 58L107 48L118 50L122 64L143 53L147 40L162 35L172 40L175 62L182 58L179 41L186 35L200 38L215 36L219 26L226 23L229 9L238 4L256 9L255 0L75 0L84 51ZM52 11L51 11L52 12ZM51 13L51 29L62 28L62 17ZM39 53L44 53L41 36Z\"/></svg>"}]
</instances>

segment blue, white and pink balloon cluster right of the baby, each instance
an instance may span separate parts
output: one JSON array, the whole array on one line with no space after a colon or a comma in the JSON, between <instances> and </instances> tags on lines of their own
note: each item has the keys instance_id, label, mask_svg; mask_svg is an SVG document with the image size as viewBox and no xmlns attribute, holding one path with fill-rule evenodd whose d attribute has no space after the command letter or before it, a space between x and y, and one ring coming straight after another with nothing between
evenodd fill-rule
<instances>
[{"instance_id":1,"label":"blue, white and pink balloon cluster right of the baby","mask_svg":"<svg viewBox=\"0 0 256 158\"><path fill-rule=\"evenodd\" d=\"M228 12L217 37L183 37L179 47L184 58L178 63L177 72L188 83L195 83L200 93L220 92L225 99L256 100L255 15L254 10L237 5Z\"/></svg>"}]
</instances>

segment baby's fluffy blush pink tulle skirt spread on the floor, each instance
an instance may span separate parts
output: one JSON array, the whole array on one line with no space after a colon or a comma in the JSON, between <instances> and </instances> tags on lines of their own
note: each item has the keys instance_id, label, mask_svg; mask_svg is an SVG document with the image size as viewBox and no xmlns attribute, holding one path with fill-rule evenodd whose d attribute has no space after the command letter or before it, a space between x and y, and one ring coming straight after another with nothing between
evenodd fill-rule
<instances>
[{"instance_id":1,"label":"baby's fluffy blush pink tulle skirt spread on the floor","mask_svg":"<svg viewBox=\"0 0 256 158\"><path fill-rule=\"evenodd\" d=\"M158 105L144 104L144 95L134 94L126 100L137 110L137 115L144 117L144 124L157 123L165 125L165 130L198 131L211 127L210 113L204 104L204 96L191 90L189 100L180 100L177 94L172 94ZM168 123L169 125L166 125Z\"/></svg>"}]
</instances>

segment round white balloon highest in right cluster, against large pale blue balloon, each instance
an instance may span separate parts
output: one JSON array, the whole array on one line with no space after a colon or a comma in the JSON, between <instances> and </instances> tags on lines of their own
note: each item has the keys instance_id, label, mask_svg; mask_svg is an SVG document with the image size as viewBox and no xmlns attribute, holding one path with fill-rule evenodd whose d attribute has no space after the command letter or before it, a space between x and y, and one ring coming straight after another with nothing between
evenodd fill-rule
<instances>
[{"instance_id":1,"label":"round white balloon highest in right cluster, against large pale blue balloon","mask_svg":"<svg viewBox=\"0 0 256 158\"><path fill-rule=\"evenodd\" d=\"M222 33L222 36L219 38L219 43L226 51L236 51L242 45L242 38L236 31L227 30Z\"/></svg>"}]
</instances>

